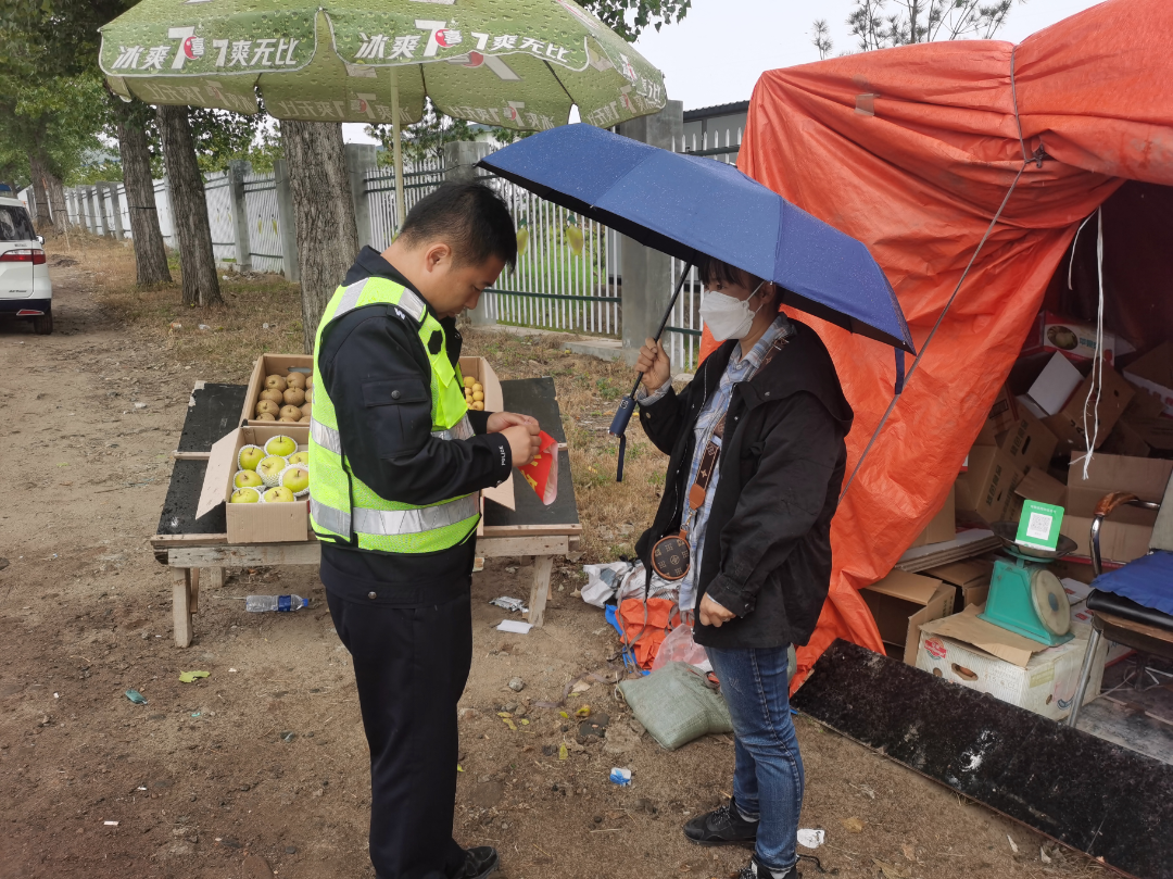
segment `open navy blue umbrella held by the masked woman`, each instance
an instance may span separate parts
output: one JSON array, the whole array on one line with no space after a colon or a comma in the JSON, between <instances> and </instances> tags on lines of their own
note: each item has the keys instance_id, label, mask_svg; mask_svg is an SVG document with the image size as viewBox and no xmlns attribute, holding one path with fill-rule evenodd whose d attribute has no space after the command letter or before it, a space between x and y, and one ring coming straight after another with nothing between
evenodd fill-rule
<instances>
[{"instance_id":1,"label":"open navy blue umbrella held by the masked woman","mask_svg":"<svg viewBox=\"0 0 1173 879\"><path fill-rule=\"evenodd\" d=\"M784 289L785 304L916 353L896 295L868 249L733 165L586 124L533 135L480 165L692 265L707 255L772 280ZM900 353L897 363L903 365ZM635 408L633 394L616 412L617 437ZM622 479L622 445L619 454Z\"/></svg>"}]
</instances>

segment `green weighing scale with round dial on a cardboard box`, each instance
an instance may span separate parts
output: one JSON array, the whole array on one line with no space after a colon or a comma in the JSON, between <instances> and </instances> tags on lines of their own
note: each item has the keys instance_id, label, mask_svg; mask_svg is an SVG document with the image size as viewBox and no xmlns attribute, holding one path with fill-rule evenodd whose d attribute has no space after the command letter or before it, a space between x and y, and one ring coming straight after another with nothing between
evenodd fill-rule
<instances>
[{"instance_id":1,"label":"green weighing scale with round dial on a cardboard box","mask_svg":"<svg viewBox=\"0 0 1173 879\"><path fill-rule=\"evenodd\" d=\"M1046 566L1073 553L1076 541L1060 534L1055 549L1040 549L1017 542L1018 522L995 522L991 529L1010 557L994 562L990 594L978 616L1049 647L1071 641L1071 602Z\"/></svg>"}]
</instances>

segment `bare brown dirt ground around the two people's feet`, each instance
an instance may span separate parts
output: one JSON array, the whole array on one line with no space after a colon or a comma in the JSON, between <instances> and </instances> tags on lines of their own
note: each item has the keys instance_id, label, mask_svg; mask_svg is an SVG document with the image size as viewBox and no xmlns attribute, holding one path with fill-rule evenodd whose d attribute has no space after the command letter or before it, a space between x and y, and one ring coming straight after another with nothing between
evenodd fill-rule
<instances>
[{"instance_id":1,"label":"bare brown dirt ground around the two people's feet","mask_svg":"<svg viewBox=\"0 0 1173 879\"><path fill-rule=\"evenodd\" d=\"M123 311L100 305L103 289L124 283L124 263L115 253L52 269L52 337L0 324L8 461L0 503L0 879L257 879L270 870L291 879L372 877L367 751L348 656L317 572L231 572L222 590L202 594L195 644L174 644L170 580L148 543L169 453L194 381L238 380L243 366L192 359L190 349L168 342L165 324L127 323ZM167 295L178 299L176 290ZM543 365L497 368L511 378L541 374ZM599 364L597 374L609 368ZM572 426L590 430L589 415ZM594 468L575 460L576 469ZM651 474L657 461L645 464ZM617 513L598 508L592 491L602 492L609 475L579 475L585 560L605 560L630 542L632 526L643 527L630 519L646 500L624 506L616 496ZM646 482L652 475L625 491L647 495ZM728 793L728 737L664 752L630 731L626 711L598 683L571 697L568 711L589 704L596 716L610 715L621 731L612 743L579 745L558 711L530 706L560 698L578 675L610 671L616 637L598 610L571 595L579 564L558 563L547 624L527 636L495 631L503 613L488 600L528 597L528 569L494 560L474 576L456 838L495 845L508 879L735 874L746 851L698 848L679 831ZM296 593L311 606L249 615L242 599L250 593ZM181 683L179 672L194 669L210 676ZM521 692L507 687L514 676L526 683ZM148 704L129 702L128 688ZM510 730L496 714L504 709L528 725ZM801 826L827 832L826 845L806 853L840 877L1101 872L807 718L798 718L798 732L807 772ZM565 760L562 743L571 746ZM612 766L629 766L633 784L611 784ZM802 871L819 875L811 861Z\"/></svg>"}]
</instances>

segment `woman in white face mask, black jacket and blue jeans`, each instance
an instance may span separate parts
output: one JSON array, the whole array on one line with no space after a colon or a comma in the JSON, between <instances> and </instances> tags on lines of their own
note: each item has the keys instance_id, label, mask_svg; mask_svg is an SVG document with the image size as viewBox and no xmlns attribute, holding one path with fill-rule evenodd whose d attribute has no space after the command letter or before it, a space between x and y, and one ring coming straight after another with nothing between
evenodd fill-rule
<instances>
[{"instance_id":1,"label":"woman in white face mask, black jacket and blue jeans","mask_svg":"<svg viewBox=\"0 0 1173 879\"><path fill-rule=\"evenodd\" d=\"M733 718L733 799L690 820L699 845L754 845L741 879L793 879L802 760L787 648L814 631L830 582L830 519L852 408L821 339L779 312L781 289L714 259L700 315L724 344L680 393L662 345L639 352L639 420L670 455L645 567L696 609Z\"/></svg>"}]
</instances>

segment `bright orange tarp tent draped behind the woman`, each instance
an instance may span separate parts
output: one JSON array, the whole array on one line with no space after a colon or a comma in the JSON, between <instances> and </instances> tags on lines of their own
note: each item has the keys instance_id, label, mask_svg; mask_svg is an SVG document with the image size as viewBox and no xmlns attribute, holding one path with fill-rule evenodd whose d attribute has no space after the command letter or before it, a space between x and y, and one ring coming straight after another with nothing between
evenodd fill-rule
<instances>
[{"instance_id":1,"label":"bright orange tarp tent draped behind the woman","mask_svg":"<svg viewBox=\"0 0 1173 879\"><path fill-rule=\"evenodd\" d=\"M908 46L758 81L739 168L868 245L918 351L1030 160L840 506L830 595L796 683L835 637L883 649L857 590L944 503L1078 224L1127 180L1173 184L1169 34L1167 0L1110 0L1017 46ZM850 473L891 399L893 352L802 319L855 408Z\"/></svg>"}]
</instances>

